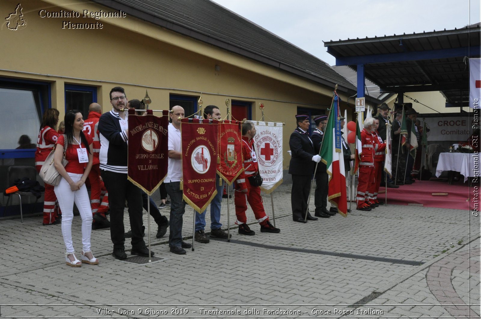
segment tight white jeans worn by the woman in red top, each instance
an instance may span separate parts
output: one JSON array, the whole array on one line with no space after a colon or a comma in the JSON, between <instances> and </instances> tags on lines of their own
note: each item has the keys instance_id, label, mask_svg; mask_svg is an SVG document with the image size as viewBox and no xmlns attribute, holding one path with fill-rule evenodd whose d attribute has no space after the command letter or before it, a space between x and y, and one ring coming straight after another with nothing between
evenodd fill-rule
<instances>
[{"instance_id":1,"label":"tight white jeans worn by the woman in red top","mask_svg":"<svg viewBox=\"0 0 481 319\"><path fill-rule=\"evenodd\" d=\"M80 181L82 174L67 172L74 182ZM78 191L72 192L70 185L62 177L60 183L54 187L55 195L62 210L62 235L67 253L75 251L72 244L72 220L74 219L74 202L82 218L82 249L90 251L90 234L92 233L92 209L90 208L89 193L85 184Z\"/></svg>"}]
</instances>

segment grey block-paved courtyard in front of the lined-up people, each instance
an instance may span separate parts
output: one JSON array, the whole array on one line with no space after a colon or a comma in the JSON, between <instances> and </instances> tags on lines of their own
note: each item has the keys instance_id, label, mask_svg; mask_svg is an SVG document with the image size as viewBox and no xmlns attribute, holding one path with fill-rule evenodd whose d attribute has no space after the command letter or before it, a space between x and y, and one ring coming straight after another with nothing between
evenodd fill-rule
<instances>
[{"instance_id":1,"label":"grey block-paved courtyard in front of the lined-up people","mask_svg":"<svg viewBox=\"0 0 481 319\"><path fill-rule=\"evenodd\" d=\"M347 218L301 224L291 219L290 190L282 184L273 193L281 233L261 233L251 210L255 236L237 233L232 198L231 241L196 242L187 255L169 252L168 231L155 238L151 218L152 251L161 258L151 263L114 259L103 229L92 231L100 264L71 268L60 225L2 220L0 317L480 318L480 217L395 205L361 212L353 203ZM263 197L272 220L270 196ZM227 229L226 198L222 205ZM192 217L187 207L189 242ZM127 213L125 221L128 230ZM77 257L80 224L75 217ZM130 247L127 240L127 256Z\"/></svg>"}]
</instances>

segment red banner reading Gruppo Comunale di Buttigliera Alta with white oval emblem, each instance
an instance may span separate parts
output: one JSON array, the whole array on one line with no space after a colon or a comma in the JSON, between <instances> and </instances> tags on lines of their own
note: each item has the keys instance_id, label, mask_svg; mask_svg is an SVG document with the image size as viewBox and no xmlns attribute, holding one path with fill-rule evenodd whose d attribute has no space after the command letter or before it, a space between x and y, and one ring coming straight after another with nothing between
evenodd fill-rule
<instances>
[{"instance_id":1,"label":"red banner reading Gruppo Comunale di Buttigliera Alta with white oval emblem","mask_svg":"<svg viewBox=\"0 0 481 319\"><path fill-rule=\"evenodd\" d=\"M202 213L217 194L218 121L182 119L182 184L183 198Z\"/></svg>"}]
</instances>

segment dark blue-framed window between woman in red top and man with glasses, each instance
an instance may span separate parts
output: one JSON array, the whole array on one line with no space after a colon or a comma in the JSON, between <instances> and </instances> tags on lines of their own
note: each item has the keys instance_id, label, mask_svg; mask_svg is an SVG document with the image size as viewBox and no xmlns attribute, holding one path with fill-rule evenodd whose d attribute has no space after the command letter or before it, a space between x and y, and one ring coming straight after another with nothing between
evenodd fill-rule
<instances>
[{"instance_id":1,"label":"dark blue-framed window between woman in red top and man with glasses","mask_svg":"<svg viewBox=\"0 0 481 319\"><path fill-rule=\"evenodd\" d=\"M97 87L65 84L64 88L65 113L69 110L79 110L84 119L89 117L89 105L97 102Z\"/></svg>"}]
</instances>

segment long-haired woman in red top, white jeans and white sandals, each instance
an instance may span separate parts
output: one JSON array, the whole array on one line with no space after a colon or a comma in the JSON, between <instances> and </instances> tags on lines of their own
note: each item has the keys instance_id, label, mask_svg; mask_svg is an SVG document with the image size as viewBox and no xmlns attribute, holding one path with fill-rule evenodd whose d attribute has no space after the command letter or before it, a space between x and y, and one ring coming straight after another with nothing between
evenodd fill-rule
<instances>
[{"instance_id":1,"label":"long-haired woman in red top, white jeans and white sandals","mask_svg":"<svg viewBox=\"0 0 481 319\"><path fill-rule=\"evenodd\" d=\"M79 110L65 114L65 135L60 135L54 154L54 165L62 175L60 183L54 187L55 195L62 210L62 235L65 242L65 262L71 267L80 267L82 263L97 265L99 260L90 251L90 233L92 232L92 210L85 180L92 168L92 139L82 132L84 120ZM68 164L63 167L63 144L67 140L65 159ZM74 202L82 218L82 253L81 260L75 256L72 244L72 220Z\"/></svg>"}]
</instances>

